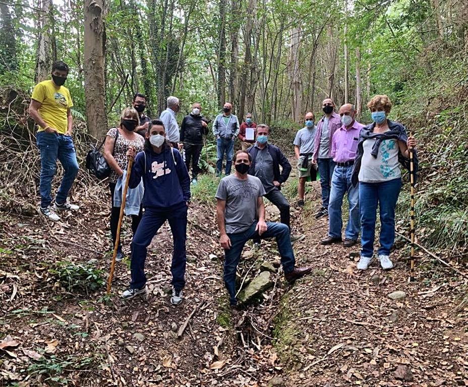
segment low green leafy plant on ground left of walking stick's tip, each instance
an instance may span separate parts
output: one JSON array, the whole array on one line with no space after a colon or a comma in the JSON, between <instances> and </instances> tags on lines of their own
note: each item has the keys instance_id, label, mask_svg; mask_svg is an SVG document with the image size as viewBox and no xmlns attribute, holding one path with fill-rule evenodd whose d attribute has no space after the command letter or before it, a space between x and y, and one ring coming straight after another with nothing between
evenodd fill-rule
<instances>
[{"instance_id":1,"label":"low green leafy plant on ground left of walking stick's tip","mask_svg":"<svg viewBox=\"0 0 468 387\"><path fill-rule=\"evenodd\" d=\"M86 263L60 261L56 263L55 268L49 269L49 272L67 291L95 291L105 283L104 272L96 268L96 263L96 260Z\"/></svg>"}]
</instances>

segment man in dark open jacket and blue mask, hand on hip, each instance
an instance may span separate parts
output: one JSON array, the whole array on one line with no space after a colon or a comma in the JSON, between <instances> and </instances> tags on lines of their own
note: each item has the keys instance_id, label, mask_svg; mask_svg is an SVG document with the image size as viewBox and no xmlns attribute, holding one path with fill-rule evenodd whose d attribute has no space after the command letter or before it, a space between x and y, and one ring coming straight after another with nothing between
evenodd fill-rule
<instances>
[{"instance_id":1,"label":"man in dark open jacket and blue mask, hand on hip","mask_svg":"<svg viewBox=\"0 0 468 387\"><path fill-rule=\"evenodd\" d=\"M280 189L281 184L289 177L291 165L277 146L268 143L269 134L270 128L268 125L257 125L257 141L247 149L252 157L249 175L260 179L266 192L264 196L278 207L281 223L289 227L290 233L289 203ZM282 168L281 172L279 166ZM291 242L296 242L303 238L303 235L291 235ZM254 243L258 242L254 240Z\"/></svg>"}]
</instances>

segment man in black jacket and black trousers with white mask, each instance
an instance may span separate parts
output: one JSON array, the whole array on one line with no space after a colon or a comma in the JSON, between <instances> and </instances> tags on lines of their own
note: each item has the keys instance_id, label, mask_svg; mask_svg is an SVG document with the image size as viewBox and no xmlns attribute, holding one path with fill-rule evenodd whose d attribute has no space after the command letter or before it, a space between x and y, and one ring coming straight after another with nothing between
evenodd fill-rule
<instances>
[{"instance_id":1,"label":"man in black jacket and black trousers with white mask","mask_svg":"<svg viewBox=\"0 0 468 387\"><path fill-rule=\"evenodd\" d=\"M184 143L185 165L190 171L192 162L192 184L197 184L197 176L200 171L198 161L203 147L203 136L208 133L208 124L201 114L202 107L199 103L192 105L192 113L184 117L181 126L181 141Z\"/></svg>"}]
</instances>

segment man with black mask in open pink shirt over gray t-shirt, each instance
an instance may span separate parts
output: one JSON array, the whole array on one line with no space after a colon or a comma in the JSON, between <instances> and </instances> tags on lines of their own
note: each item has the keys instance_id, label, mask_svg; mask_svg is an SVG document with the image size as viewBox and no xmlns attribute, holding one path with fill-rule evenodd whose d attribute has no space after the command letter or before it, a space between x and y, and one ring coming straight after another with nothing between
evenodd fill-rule
<instances>
[{"instance_id":1,"label":"man with black mask in open pink shirt over gray t-shirt","mask_svg":"<svg viewBox=\"0 0 468 387\"><path fill-rule=\"evenodd\" d=\"M317 164L320 174L320 187L322 188L322 208L315 213L318 219L328 215L328 202L330 199L331 177L335 168L335 162L331 156L331 142L333 134L341 127L341 120L334 112L335 103L331 98L325 98L322 102L323 117L317 124L314 144L314 164Z\"/></svg>"}]
</instances>

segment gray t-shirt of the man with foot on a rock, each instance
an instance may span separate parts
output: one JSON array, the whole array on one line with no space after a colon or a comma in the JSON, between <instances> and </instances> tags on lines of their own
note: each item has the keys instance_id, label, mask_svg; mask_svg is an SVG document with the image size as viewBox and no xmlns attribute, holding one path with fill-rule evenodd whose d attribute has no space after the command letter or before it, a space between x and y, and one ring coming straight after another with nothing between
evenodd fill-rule
<instances>
[{"instance_id":1,"label":"gray t-shirt of the man with foot on a rock","mask_svg":"<svg viewBox=\"0 0 468 387\"><path fill-rule=\"evenodd\" d=\"M258 177L247 175L241 180L235 174L219 182L216 199L225 200L224 219L227 234L238 234L247 230L257 218L257 199L265 195Z\"/></svg>"}]
</instances>

